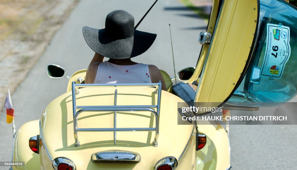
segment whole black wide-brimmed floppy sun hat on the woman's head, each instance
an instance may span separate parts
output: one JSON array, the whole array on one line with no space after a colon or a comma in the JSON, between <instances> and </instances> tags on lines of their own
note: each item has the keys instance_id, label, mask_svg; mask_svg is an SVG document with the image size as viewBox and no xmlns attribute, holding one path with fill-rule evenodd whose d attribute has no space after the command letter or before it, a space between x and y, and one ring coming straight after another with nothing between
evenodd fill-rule
<instances>
[{"instance_id":1,"label":"whole black wide-brimmed floppy sun hat on the woman's head","mask_svg":"<svg viewBox=\"0 0 297 170\"><path fill-rule=\"evenodd\" d=\"M157 34L135 30L133 16L115 10L106 16L104 29L84 26L83 37L96 53L111 59L127 59L147 51Z\"/></svg>"}]
</instances>

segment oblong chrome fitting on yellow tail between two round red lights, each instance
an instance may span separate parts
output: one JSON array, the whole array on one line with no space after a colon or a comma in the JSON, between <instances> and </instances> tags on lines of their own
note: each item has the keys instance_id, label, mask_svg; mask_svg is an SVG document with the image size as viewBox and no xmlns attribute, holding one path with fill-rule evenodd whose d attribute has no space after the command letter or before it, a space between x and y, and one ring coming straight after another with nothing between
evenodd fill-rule
<instances>
[{"instance_id":1,"label":"oblong chrome fitting on yellow tail between two round red lights","mask_svg":"<svg viewBox=\"0 0 297 170\"><path fill-rule=\"evenodd\" d=\"M140 162L140 155L135 152L123 150L108 150L93 153L91 156L93 162L112 162L112 163L138 163Z\"/></svg>"}]
</instances>

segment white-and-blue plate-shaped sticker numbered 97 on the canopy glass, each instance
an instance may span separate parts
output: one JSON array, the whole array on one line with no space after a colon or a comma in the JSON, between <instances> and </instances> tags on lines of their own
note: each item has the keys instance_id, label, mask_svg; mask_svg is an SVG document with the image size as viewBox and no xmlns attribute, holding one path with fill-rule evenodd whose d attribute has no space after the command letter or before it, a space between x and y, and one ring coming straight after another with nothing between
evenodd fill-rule
<instances>
[{"instance_id":1,"label":"white-and-blue plate-shaped sticker numbered 97 on the canopy glass","mask_svg":"<svg viewBox=\"0 0 297 170\"><path fill-rule=\"evenodd\" d=\"M282 77L285 64L290 58L290 28L277 24L267 24L266 51L260 76L276 79Z\"/></svg>"}]
</instances>

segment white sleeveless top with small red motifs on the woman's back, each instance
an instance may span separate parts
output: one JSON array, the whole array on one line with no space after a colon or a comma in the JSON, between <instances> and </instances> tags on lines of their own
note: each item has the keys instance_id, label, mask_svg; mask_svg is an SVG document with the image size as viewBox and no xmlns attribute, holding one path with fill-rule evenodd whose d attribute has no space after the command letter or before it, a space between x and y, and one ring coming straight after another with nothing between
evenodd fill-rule
<instances>
[{"instance_id":1,"label":"white sleeveless top with small red motifs on the woman's back","mask_svg":"<svg viewBox=\"0 0 297 170\"><path fill-rule=\"evenodd\" d=\"M151 83L147 64L117 65L108 61L99 64L95 84Z\"/></svg>"}]
</instances>

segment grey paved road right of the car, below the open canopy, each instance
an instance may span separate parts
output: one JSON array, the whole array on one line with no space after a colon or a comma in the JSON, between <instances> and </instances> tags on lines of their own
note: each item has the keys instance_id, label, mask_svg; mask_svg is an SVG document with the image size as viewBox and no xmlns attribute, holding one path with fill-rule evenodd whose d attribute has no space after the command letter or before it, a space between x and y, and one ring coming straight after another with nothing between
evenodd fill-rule
<instances>
[{"instance_id":1,"label":"grey paved road right of the car, below the open canopy","mask_svg":"<svg viewBox=\"0 0 297 170\"><path fill-rule=\"evenodd\" d=\"M287 115L288 122L296 124L296 98L292 102L295 103L260 108L252 114ZM233 116L250 114L248 111L231 111ZM296 169L297 126L267 125L268 122L272 123L266 121L262 122L266 125L230 125L231 165L234 169Z\"/></svg>"}]
</instances>

